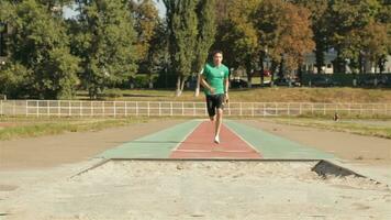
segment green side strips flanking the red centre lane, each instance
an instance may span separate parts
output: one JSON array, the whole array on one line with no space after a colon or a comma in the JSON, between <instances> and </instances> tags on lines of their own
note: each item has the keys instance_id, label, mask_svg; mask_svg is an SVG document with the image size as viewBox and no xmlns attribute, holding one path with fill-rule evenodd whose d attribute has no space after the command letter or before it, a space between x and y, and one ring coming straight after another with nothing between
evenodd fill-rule
<instances>
[{"instance_id":1,"label":"green side strips flanking the red centre lane","mask_svg":"<svg viewBox=\"0 0 391 220\"><path fill-rule=\"evenodd\" d=\"M98 155L103 158L169 158L172 151L191 135L201 120L190 120L159 132L124 143ZM244 123L225 120L224 124L256 148L264 160L327 160L333 154L302 145ZM221 150L224 151L224 150Z\"/></svg>"}]
</instances>

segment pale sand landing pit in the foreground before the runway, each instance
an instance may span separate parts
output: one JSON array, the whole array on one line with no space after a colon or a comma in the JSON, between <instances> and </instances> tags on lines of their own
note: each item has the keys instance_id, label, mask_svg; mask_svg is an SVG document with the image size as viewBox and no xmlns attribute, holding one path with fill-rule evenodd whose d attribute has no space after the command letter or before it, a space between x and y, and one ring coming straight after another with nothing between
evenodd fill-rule
<instances>
[{"instance_id":1,"label":"pale sand landing pit in the foreground before the runway","mask_svg":"<svg viewBox=\"0 0 391 220\"><path fill-rule=\"evenodd\" d=\"M5 219L391 219L388 186L316 165L112 161L18 189Z\"/></svg>"}]
</instances>

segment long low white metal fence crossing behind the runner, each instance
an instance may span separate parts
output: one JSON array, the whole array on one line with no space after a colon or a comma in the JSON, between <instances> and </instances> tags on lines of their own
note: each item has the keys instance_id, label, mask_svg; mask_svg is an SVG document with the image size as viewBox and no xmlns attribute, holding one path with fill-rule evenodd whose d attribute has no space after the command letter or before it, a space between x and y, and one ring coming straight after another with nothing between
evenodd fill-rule
<instances>
[{"instance_id":1,"label":"long low white metal fence crossing behind the runner","mask_svg":"<svg viewBox=\"0 0 391 220\"><path fill-rule=\"evenodd\" d=\"M233 117L277 116L391 116L391 103L232 102L224 113ZM204 102L0 100L0 116L130 117L206 116Z\"/></svg>"}]
</instances>

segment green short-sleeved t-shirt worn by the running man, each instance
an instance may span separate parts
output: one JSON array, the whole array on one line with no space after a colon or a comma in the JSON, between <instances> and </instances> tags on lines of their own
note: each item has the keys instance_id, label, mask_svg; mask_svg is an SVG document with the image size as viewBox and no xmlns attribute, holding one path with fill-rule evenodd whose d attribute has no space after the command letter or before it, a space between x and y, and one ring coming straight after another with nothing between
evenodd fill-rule
<instances>
[{"instance_id":1,"label":"green short-sleeved t-shirt worn by the running man","mask_svg":"<svg viewBox=\"0 0 391 220\"><path fill-rule=\"evenodd\" d=\"M225 65L214 66L206 64L203 68L202 75L206 79L208 84L214 88L214 94L224 94L224 79L228 78L230 69ZM204 89L206 95L210 95L208 89Z\"/></svg>"}]
</instances>

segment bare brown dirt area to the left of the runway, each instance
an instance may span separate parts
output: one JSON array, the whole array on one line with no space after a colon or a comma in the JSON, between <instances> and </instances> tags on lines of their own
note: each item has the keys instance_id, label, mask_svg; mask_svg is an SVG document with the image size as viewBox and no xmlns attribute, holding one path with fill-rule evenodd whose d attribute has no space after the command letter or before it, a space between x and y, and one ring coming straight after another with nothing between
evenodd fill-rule
<instances>
[{"instance_id":1,"label":"bare brown dirt area to the left of the runway","mask_svg":"<svg viewBox=\"0 0 391 220\"><path fill-rule=\"evenodd\" d=\"M0 141L0 170L53 167L88 160L124 142L169 128L183 120L157 120L98 132Z\"/></svg>"}]
</instances>

